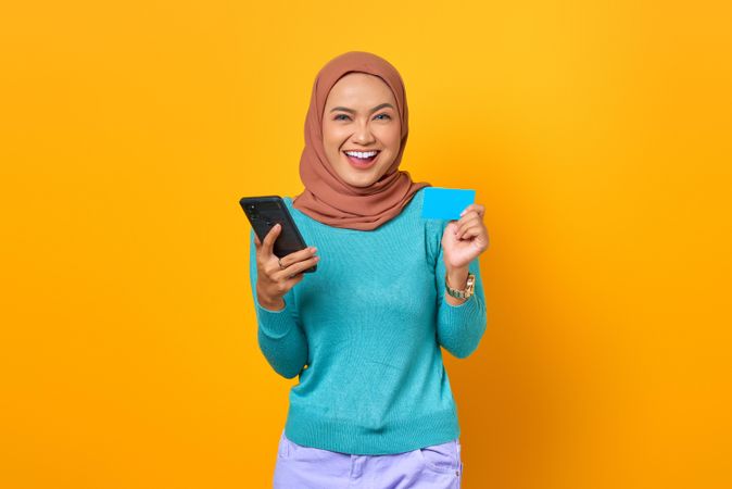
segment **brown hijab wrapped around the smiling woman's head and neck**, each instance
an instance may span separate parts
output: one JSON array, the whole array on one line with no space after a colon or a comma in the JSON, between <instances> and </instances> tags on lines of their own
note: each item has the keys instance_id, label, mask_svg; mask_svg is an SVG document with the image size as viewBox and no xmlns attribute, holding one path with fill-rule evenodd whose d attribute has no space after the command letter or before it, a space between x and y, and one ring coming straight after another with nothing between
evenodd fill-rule
<instances>
[{"instance_id":1,"label":"brown hijab wrapped around the smiling woman's head and neck","mask_svg":"<svg viewBox=\"0 0 732 489\"><path fill-rule=\"evenodd\" d=\"M354 187L338 176L323 147L323 112L330 89L352 72L380 77L396 99L402 121L402 142L394 162L383 176L369 187ZM305 118L305 148L300 158L300 178L305 190L292 205L312 218L333 227L371 230L399 215L414 193L427 181L414 183L408 172L400 171L409 133L406 91L402 77L387 60L363 51L350 51L330 60L315 78Z\"/></svg>"}]
</instances>

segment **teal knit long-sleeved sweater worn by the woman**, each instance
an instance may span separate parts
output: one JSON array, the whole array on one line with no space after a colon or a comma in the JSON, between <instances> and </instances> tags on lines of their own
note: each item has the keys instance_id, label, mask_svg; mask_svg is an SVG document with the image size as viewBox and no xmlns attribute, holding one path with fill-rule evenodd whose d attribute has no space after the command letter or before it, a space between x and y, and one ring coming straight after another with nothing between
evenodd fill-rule
<instances>
[{"instance_id":1,"label":"teal knit long-sleeved sweater worn by the woman","mask_svg":"<svg viewBox=\"0 0 732 489\"><path fill-rule=\"evenodd\" d=\"M442 233L449 221L421 218L422 189L374 230L331 227L283 198L317 271L270 311L256 298L254 231L250 279L258 344L290 389L285 426L299 444L352 454L400 453L459 436L443 347L463 359L485 330L478 259L475 294L444 299Z\"/></svg>"}]
</instances>

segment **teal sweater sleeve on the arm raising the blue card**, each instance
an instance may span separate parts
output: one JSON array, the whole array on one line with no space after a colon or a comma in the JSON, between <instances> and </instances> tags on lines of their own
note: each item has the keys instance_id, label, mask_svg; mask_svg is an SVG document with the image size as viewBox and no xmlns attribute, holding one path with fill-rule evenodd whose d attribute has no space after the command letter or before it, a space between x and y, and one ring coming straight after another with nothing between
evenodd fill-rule
<instances>
[{"instance_id":1,"label":"teal sweater sleeve on the arm raising the blue card","mask_svg":"<svg viewBox=\"0 0 732 489\"><path fill-rule=\"evenodd\" d=\"M472 260L468 269L476 276L475 293L459 305L445 300L446 267L443 259L442 235L450 221L427 221L428 255L434 266L437 288L437 337L438 342L458 359L470 355L480 343L485 331L487 312L480 262ZM437 256L436 256L437 255Z\"/></svg>"}]
</instances>

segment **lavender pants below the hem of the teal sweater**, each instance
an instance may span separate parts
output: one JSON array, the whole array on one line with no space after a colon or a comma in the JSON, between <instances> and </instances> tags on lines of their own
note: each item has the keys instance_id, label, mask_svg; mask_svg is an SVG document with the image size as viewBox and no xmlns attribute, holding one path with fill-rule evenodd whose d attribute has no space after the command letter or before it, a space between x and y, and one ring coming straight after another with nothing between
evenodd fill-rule
<instances>
[{"instance_id":1,"label":"lavender pants below the hem of the teal sweater","mask_svg":"<svg viewBox=\"0 0 732 489\"><path fill-rule=\"evenodd\" d=\"M351 455L279 439L275 489L459 489L459 439L389 455Z\"/></svg>"}]
</instances>

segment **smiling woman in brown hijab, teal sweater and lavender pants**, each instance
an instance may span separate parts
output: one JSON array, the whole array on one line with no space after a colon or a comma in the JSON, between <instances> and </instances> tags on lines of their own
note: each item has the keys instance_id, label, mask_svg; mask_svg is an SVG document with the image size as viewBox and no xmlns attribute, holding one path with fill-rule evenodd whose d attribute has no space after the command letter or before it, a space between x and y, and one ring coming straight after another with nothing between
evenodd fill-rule
<instances>
[{"instance_id":1,"label":"smiling woman in brown hijab, teal sweater and lavender pants","mask_svg":"<svg viewBox=\"0 0 732 489\"><path fill-rule=\"evenodd\" d=\"M260 348L277 373L300 376L276 488L459 487L459 426L440 347L465 358L485 329L484 208L471 204L458 221L421 218L430 184L399 171L407 115L402 78L386 60L352 51L327 63L305 122L305 189L283 198L311 248L278 260L279 226L262 242L250 235ZM446 293L446 285L468 289L468 278L472 294Z\"/></svg>"}]
</instances>

